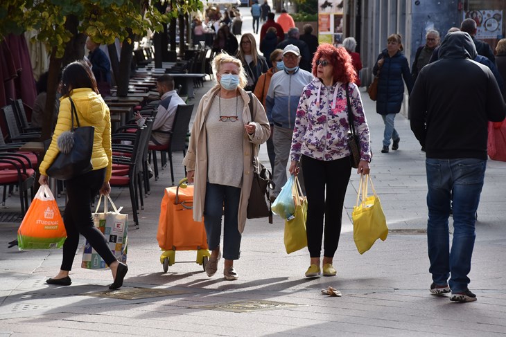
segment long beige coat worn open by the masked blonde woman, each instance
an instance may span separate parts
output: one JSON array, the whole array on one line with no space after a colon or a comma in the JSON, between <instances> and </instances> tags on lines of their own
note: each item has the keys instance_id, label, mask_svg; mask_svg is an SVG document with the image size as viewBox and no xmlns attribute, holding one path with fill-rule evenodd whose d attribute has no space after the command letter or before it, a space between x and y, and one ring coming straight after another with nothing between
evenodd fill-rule
<instances>
[{"instance_id":1,"label":"long beige coat worn open by the masked blonde woman","mask_svg":"<svg viewBox=\"0 0 506 337\"><path fill-rule=\"evenodd\" d=\"M188 153L184 157L183 165L186 166L187 171L195 170L195 186L193 188L193 219L195 221L202 221L204 215L204 201L206 197L206 184L207 184L207 131L205 122L211 102L218 94L220 86L214 86L209 90L200 100L198 104L195 120L191 129L190 144ZM250 113L250 96L243 89L238 89L241 97L244 100L243 121L245 124L252 121ZM253 98L253 122L255 123L255 133L250 136L244 131L243 135L243 187L241 188L241 199L239 200L238 212L238 230L243 233L246 224L246 210L247 201L250 199L251 184L253 181L253 161L252 161L252 144L262 144L269 138L270 126L265 115L265 110L262 104L252 95ZM258 160L258 158L256 158ZM238 174L240 174L238 172Z\"/></svg>"}]
</instances>

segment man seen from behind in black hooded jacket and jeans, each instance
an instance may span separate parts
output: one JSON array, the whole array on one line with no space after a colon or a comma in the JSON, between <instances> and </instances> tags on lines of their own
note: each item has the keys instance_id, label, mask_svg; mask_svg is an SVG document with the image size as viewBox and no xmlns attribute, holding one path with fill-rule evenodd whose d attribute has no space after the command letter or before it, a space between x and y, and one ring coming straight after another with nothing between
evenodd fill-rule
<instances>
[{"instance_id":1,"label":"man seen from behind in black hooded jacket and jeans","mask_svg":"<svg viewBox=\"0 0 506 337\"><path fill-rule=\"evenodd\" d=\"M476 300L467 275L487 165L487 124L506 116L494 75L474 57L468 33L448 33L439 60L421 69L410 95L411 129L426 149L430 293L451 291L450 300L456 302Z\"/></svg>"}]
</instances>

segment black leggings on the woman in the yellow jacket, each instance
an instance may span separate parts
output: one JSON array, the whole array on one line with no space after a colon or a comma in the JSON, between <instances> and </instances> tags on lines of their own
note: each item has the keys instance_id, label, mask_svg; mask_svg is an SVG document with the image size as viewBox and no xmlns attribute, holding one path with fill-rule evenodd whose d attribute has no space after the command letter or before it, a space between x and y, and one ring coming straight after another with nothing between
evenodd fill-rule
<instances>
[{"instance_id":1,"label":"black leggings on the woman in the yellow jacket","mask_svg":"<svg viewBox=\"0 0 506 337\"><path fill-rule=\"evenodd\" d=\"M105 237L94 226L91 216L91 201L101 189L105 179L105 168L91 171L76 178L69 179L67 185L67 206L63 215L67 239L63 244L62 271L72 269L73 258L79 245L79 233L110 266L116 261L111 249L107 246Z\"/></svg>"}]
</instances>

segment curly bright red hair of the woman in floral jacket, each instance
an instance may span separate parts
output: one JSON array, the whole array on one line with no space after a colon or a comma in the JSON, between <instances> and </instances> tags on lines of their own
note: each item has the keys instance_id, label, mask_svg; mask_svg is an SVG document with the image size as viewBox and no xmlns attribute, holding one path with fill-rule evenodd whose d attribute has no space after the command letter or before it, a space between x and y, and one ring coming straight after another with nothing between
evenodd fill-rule
<instances>
[{"instance_id":1,"label":"curly bright red hair of the woman in floral jacket","mask_svg":"<svg viewBox=\"0 0 506 337\"><path fill-rule=\"evenodd\" d=\"M316 61L325 57L332 64L333 67L333 82L355 82L357 75L353 63L351 62L351 56L344 49L344 47L335 48L331 44L320 44L318 46L315 57L313 57L313 76L317 75L317 64Z\"/></svg>"}]
</instances>

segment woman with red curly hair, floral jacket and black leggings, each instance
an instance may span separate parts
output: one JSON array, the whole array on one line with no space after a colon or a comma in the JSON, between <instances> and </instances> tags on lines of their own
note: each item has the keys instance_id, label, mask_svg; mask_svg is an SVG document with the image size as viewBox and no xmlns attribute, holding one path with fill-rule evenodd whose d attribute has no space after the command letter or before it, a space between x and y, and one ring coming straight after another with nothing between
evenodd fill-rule
<instances>
[{"instance_id":1,"label":"woman with red curly hair, floral jacket and black leggings","mask_svg":"<svg viewBox=\"0 0 506 337\"><path fill-rule=\"evenodd\" d=\"M302 161L308 198L306 232L311 264L306 277L321 273L323 233L323 275L336 274L333 257L338 249L344 194L351 175L348 113L353 115L360 138L357 173L369 174L371 160L369 127L358 86L354 84L356 73L349 53L342 47L320 44L313 58L313 75L315 78L304 87L299 100L290 152L291 174L299 173Z\"/></svg>"}]
</instances>

